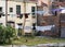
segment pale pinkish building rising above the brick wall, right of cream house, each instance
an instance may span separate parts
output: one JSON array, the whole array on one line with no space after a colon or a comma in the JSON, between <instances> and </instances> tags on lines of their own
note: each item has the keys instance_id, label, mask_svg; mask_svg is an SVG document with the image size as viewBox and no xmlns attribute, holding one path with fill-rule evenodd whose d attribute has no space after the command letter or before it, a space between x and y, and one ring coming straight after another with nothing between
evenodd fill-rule
<instances>
[{"instance_id":1,"label":"pale pinkish building rising above the brick wall, right of cream house","mask_svg":"<svg viewBox=\"0 0 65 47\"><path fill-rule=\"evenodd\" d=\"M43 15L49 15L49 11L50 11L50 5L52 3L52 0L39 0L39 7L42 7L43 9Z\"/></svg>"}]
</instances>

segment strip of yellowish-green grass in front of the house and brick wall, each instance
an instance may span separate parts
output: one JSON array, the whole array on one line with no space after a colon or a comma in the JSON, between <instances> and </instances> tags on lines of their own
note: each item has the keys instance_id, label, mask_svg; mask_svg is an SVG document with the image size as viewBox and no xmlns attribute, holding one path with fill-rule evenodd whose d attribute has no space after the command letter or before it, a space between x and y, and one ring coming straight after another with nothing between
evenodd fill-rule
<instances>
[{"instance_id":1,"label":"strip of yellowish-green grass in front of the house and brick wall","mask_svg":"<svg viewBox=\"0 0 65 47\"><path fill-rule=\"evenodd\" d=\"M27 39L27 42L26 42ZM37 44L48 44L48 43L65 43L65 38L52 38L52 37L21 37L18 39L12 40L14 45L27 45L32 46Z\"/></svg>"}]
</instances>

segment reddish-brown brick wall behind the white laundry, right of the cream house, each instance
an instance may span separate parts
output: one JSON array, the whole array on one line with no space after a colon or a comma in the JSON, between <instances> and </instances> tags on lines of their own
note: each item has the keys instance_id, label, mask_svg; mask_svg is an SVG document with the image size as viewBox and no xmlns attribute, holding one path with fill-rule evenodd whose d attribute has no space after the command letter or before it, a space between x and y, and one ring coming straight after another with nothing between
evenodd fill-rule
<instances>
[{"instance_id":1,"label":"reddish-brown brick wall behind the white laundry, right of the cream house","mask_svg":"<svg viewBox=\"0 0 65 47\"><path fill-rule=\"evenodd\" d=\"M58 35L60 25L61 25L61 28L65 27L65 14L58 14L56 16L55 15L42 15L42 16L39 16L39 21L40 21L39 25L42 25L42 26L52 25L52 24L55 25L55 28L56 28L55 33L52 33L52 31L49 31L44 33L47 35L52 35L52 34Z\"/></svg>"}]
</instances>

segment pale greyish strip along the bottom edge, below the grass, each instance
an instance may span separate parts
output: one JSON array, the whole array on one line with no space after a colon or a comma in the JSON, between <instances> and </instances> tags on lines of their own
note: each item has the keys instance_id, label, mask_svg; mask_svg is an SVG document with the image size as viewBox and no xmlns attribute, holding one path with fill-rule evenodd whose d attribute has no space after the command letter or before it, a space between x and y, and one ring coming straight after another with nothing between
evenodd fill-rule
<instances>
[{"instance_id":1,"label":"pale greyish strip along the bottom edge, below the grass","mask_svg":"<svg viewBox=\"0 0 65 47\"><path fill-rule=\"evenodd\" d=\"M65 47L65 43L54 43L54 44L39 44L35 46L26 46L26 45L6 45L0 47Z\"/></svg>"}]
</instances>

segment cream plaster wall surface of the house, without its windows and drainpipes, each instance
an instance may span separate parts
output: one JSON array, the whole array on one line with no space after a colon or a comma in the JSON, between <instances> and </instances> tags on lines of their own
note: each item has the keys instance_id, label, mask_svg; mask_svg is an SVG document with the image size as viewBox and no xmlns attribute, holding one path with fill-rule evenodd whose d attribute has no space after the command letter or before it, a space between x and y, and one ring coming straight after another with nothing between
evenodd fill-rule
<instances>
[{"instance_id":1,"label":"cream plaster wall surface of the house, without its windows and drainpipes","mask_svg":"<svg viewBox=\"0 0 65 47\"><path fill-rule=\"evenodd\" d=\"M24 19L18 19L16 17L16 5L21 5L21 13L24 13L24 3L23 2L16 2L16 1L8 1L8 21L13 21L15 22L15 28L18 28L18 25L17 23L23 23L24 22ZM2 7L2 11L3 13L5 14L5 1L1 1L0 0L0 7ZM31 7L36 7L35 3L26 3L26 13L30 13L28 15L28 19L26 19L26 22L25 22L25 27L26 26L30 26L29 30L24 30L25 32L30 32L31 31L31 25L32 25L32 22L35 22L35 20L32 21L32 16L31 16ZM10 8L13 8L13 12L10 12ZM5 25L5 16L2 16L0 19L0 23L3 23L3 25Z\"/></svg>"}]
</instances>

